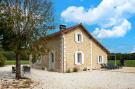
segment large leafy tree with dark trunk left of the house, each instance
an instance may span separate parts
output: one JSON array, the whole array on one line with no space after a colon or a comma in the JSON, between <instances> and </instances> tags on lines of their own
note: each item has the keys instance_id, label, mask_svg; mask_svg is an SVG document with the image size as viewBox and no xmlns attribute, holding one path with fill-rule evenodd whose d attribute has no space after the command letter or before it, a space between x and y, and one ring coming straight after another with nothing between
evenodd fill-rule
<instances>
[{"instance_id":1,"label":"large leafy tree with dark trunk left of the house","mask_svg":"<svg viewBox=\"0 0 135 89\"><path fill-rule=\"evenodd\" d=\"M4 49L16 53L16 79L21 78L20 54L38 49L35 42L54 27L50 0L5 0L0 5L0 38Z\"/></svg>"}]
</instances>

